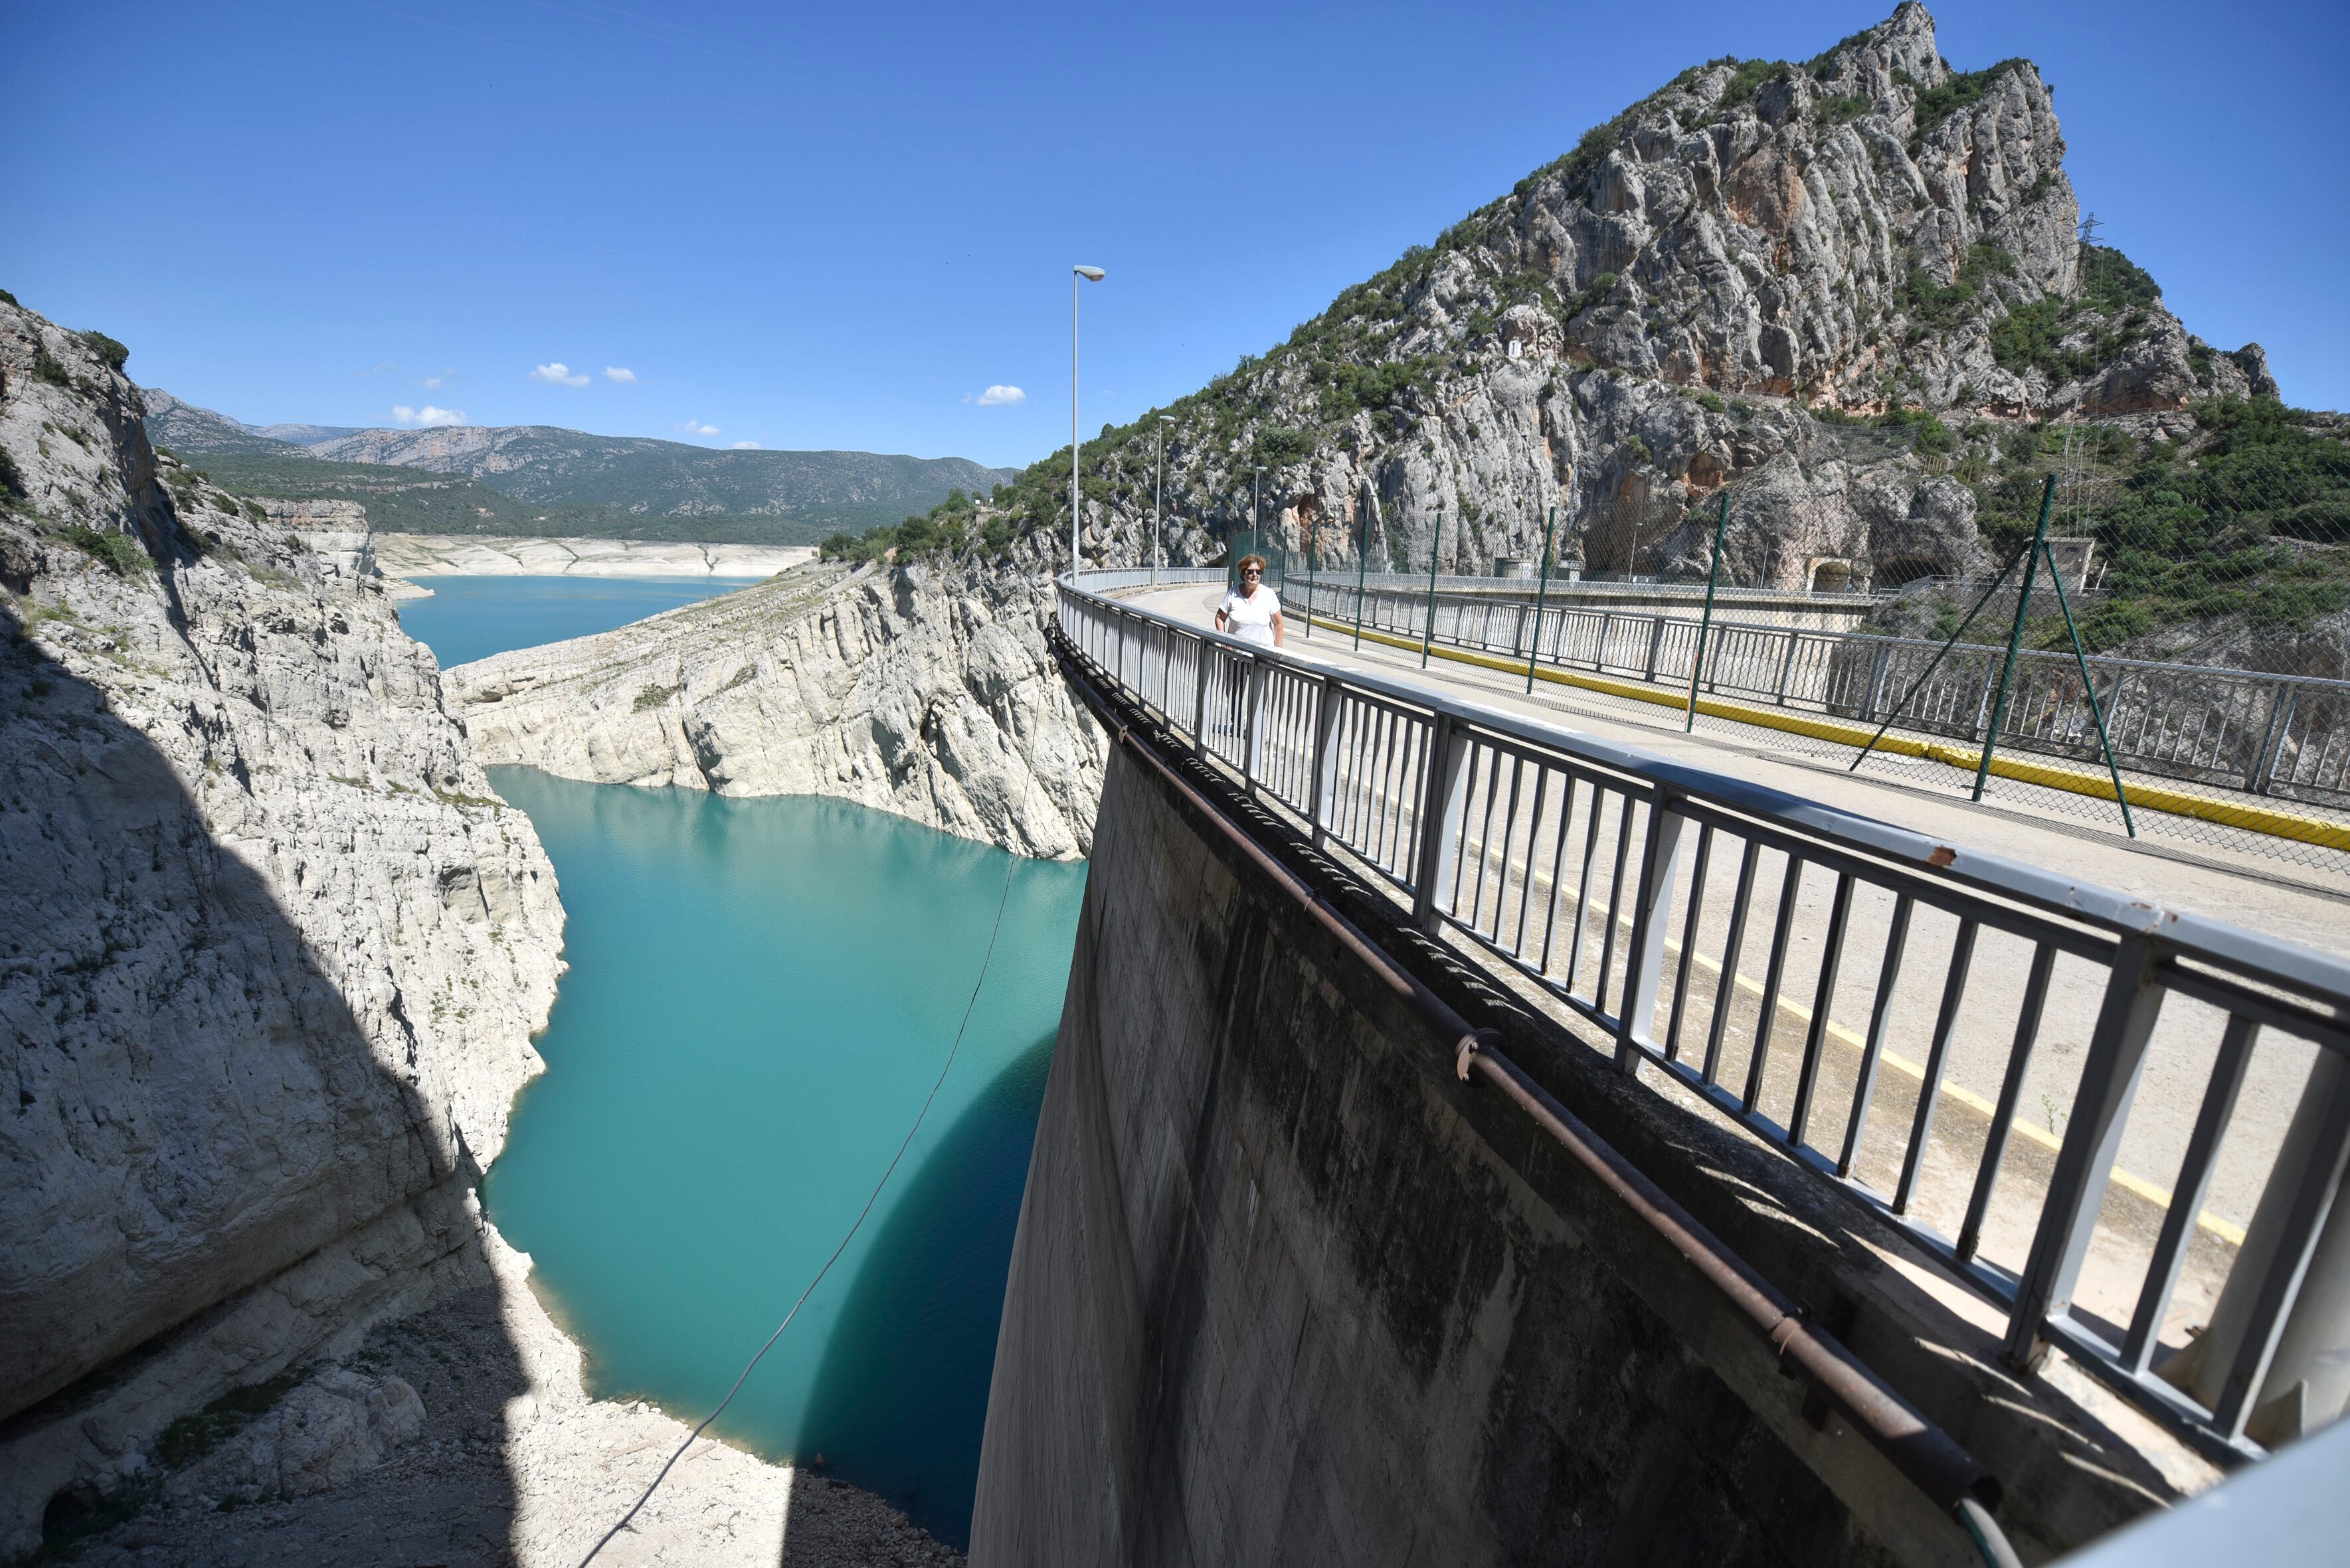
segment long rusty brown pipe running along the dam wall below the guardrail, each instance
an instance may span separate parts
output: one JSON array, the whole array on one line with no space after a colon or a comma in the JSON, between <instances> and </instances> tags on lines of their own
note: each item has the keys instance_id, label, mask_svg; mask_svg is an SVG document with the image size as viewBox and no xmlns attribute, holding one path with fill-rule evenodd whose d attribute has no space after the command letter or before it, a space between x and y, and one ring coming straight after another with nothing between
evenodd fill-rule
<instances>
[{"instance_id":1,"label":"long rusty brown pipe running along the dam wall below the guardrail","mask_svg":"<svg viewBox=\"0 0 2350 1568\"><path fill-rule=\"evenodd\" d=\"M1090 662L1090 660L1088 660ZM1100 669L1100 667L1095 667ZM1713 1286L1772 1347L1885 1460L1943 1512L1958 1514L1962 1502L1998 1507L2000 1481L1969 1455L1948 1432L1929 1422L1901 1399L1875 1371L1842 1343L1812 1326L1802 1310L1753 1265L1739 1258L1720 1237L1683 1209L1647 1174L1633 1167L1605 1138L1558 1103L1525 1075L1499 1047L1499 1030L1476 1028L1436 995L1417 974L1398 965L1377 941L1316 892L1281 857L1248 833L1231 812L1213 803L1191 779L1126 723L1116 704L1088 690L1095 711L1116 742L1168 784L1208 826L1238 850L1262 876L1314 918L1337 944L1368 967L1412 1014L1426 1023L1455 1061L1462 1082L1471 1073L1502 1089L1567 1155L1600 1181L1624 1209L1661 1237L1708 1286Z\"/></svg>"}]
</instances>

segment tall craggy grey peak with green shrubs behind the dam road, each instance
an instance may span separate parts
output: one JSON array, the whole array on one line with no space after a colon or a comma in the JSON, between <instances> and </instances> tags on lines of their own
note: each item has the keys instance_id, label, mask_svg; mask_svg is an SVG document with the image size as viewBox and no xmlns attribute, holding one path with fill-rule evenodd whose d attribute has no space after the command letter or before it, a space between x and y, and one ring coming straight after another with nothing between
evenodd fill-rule
<instances>
[{"instance_id":1,"label":"tall craggy grey peak with green shrubs behind the dam road","mask_svg":"<svg viewBox=\"0 0 2350 1568\"><path fill-rule=\"evenodd\" d=\"M1556 505L1563 566L1704 570L1690 514L1732 484L1739 582L1969 570L2016 423L2162 439L2277 392L2258 345L2211 350L2080 242L2063 150L2033 63L1953 68L1915 2L1812 61L1692 66L1170 404L1168 559L1262 526L1490 570ZM1086 441L1090 559L1149 549L1159 413ZM996 552L1065 552L1067 495L1067 453L996 493Z\"/></svg>"}]
</instances>

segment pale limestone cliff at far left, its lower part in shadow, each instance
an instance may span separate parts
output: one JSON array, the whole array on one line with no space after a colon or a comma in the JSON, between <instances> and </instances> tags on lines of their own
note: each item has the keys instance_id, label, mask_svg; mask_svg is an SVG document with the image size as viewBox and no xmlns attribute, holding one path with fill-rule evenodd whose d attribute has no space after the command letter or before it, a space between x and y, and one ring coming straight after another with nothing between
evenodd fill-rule
<instances>
[{"instance_id":1,"label":"pale limestone cliff at far left, its lower part in shadow","mask_svg":"<svg viewBox=\"0 0 2350 1568\"><path fill-rule=\"evenodd\" d=\"M559 972L430 653L160 458L108 347L0 303L0 1554L414 1305Z\"/></svg>"}]
</instances>

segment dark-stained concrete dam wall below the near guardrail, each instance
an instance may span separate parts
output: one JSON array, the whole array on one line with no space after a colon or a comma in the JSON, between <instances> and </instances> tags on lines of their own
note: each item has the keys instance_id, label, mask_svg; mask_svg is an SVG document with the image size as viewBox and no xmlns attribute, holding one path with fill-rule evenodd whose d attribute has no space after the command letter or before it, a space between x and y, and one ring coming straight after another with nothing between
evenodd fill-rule
<instances>
[{"instance_id":1,"label":"dark-stained concrete dam wall below the near guardrail","mask_svg":"<svg viewBox=\"0 0 2350 1568\"><path fill-rule=\"evenodd\" d=\"M1222 805L1253 810L1229 786ZM1889 1270L1866 1216L1617 1077L1401 920L1372 930L1384 901L1358 894L1361 930L1417 944L1405 962L1431 988L1990 1465L2028 1559L2169 1495L2096 1415L2005 1376L1993 1333ZM1121 746L971 1561L1981 1561L1676 1268L1495 1089L1462 1082L1198 796Z\"/></svg>"}]
</instances>

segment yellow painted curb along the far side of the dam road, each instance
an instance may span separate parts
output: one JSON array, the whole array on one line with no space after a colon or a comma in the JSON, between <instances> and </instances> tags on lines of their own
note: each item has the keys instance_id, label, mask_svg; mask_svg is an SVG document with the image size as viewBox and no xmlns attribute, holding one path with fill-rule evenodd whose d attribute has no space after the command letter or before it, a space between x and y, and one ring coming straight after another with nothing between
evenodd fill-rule
<instances>
[{"instance_id":1,"label":"yellow painted curb along the far side of the dam road","mask_svg":"<svg viewBox=\"0 0 2350 1568\"><path fill-rule=\"evenodd\" d=\"M1354 634L1354 622L1328 620L1323 615L1314 617L1316 627L1328 627L1330 631ZM1417 641L1405 636L1394 636L1389 631L1363 629L1363 638L1372 643L1384 643L1389 648L1419 648ZM1476 664L1480 669L1499 669L1513 676L1525 674L1525 660L1504 660L1490 653L1469 653L1464 648L1436 648L1429 653L1438 660L1452 660L1455 664ZM1537 681L1551 681L1553 685L1579 685L1584 690L1605 692L1610 697L1629 697L1633 702L1647 702L1654 707L1673 709L1676 714L1690 711L1690 699L1680 692L1659 690L1645 681L1617 681L1612 676L1591 676L1574 669L1535 669ZM1835 718L1817 718L1812 714L1788 714L1784 709L1758 709L1744 702L1723 702L1720 697L1699 697L1697 711L1708 718L1730 718L1734 723L1751 723L1762 730L1786 730L1791 735L1810 735L1812 739L1831 739L1842 746L1864 746L1875 730L1854 723L1840 723ZM1943 742L1908 739L1904 735L1887 735L1878 742L1878 751L1894 751L1901 756L1922 756L1960 772L1974 772L1983 753L1974 746L1950 746ZM2016 779L2021 784L2040 784L2042 789L2061 789L2075 796L2092 796L2096 800L2113 800L2113 779L2082 772L2077 768L2063 768L2056 763L2035 763L2016 756L1990 758L1990 772L2002 779ZM2174 817L2195 817L2200 822L2216 822L2230 829L2244 829L2249 833L2265 833L2270 838L2291 838L2308 845L2322 845L2326 850L2350 850L2350 826L2341 822L2326 822L2322 817L2303 817L2298 812L2282 812L2272 805L2254 805L2249 800L2214 800L2209 796L2190 796L2181 789L2164 789L2160 784L2131 784L2129 803L2143 805L2157 812L2169 812Z\"/></svg>"}]
</instances>

